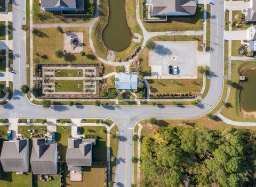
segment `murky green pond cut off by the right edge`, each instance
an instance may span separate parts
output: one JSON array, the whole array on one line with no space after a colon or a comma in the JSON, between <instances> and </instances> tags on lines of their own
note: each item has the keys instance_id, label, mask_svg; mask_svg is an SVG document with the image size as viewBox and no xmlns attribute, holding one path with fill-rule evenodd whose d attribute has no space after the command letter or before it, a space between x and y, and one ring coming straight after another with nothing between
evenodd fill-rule
<instances>
[{"instance_id":1,"label":"murky green pond cut off by the right edge","mask_svg":"<svg viewBox=\"0 0 256 187\"><path fill-rule=\"evenodd\" d=\"M241 106L246 112L256 112L256 70L243 73L243 89L240 95Z\"/></svg>"}]
</instances>

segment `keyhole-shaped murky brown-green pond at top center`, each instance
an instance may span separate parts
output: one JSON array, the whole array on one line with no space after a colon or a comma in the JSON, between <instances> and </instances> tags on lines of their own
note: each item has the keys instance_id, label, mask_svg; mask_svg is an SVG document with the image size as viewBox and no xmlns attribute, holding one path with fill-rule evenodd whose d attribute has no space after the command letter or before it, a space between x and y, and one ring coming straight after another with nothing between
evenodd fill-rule
<instances>
[{"instance_id":1,"label":"keyhole-shaped murky brown-green pond at top center","mask_svg":"<svg viewBox=\"0 0 256 187\"><path fill-rule=\"evenodd\" d=\"M109 18L103 30L103 41L108 49L122 52L130 46L131 30L126 21L125 0L109 0Z\"/></svg>"}]
</instances>

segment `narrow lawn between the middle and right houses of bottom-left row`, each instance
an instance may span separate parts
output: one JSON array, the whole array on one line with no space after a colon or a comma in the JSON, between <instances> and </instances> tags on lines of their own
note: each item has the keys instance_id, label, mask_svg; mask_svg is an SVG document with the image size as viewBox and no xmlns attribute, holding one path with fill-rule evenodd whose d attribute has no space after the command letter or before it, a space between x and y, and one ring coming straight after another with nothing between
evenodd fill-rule
<instances>
[{"instance_id":1,"label":"narrow lawn between the middle and right houses of bottom-left row","mask_svg":"<svg viewBox=\"0 0 256 187\"><path fill-rule=\"evenodd\" d=\"M60 149L60 160L66 162L66 152L68 148L68 138L71 137L71 126L57 126L56 141Z\"/></svg>"}]
</instances>

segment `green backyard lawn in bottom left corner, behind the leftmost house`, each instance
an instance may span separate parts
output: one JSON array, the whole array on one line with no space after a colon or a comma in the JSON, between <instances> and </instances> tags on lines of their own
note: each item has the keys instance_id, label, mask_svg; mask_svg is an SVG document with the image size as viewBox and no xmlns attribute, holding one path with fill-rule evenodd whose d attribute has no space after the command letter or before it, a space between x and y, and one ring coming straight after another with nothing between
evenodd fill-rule
<instances>
[{"instance_id":1,"label":"green backyard lawn in bottom left corner, behind the leftmost house","mask_svg":"<svg viewBox=\"0 0 256 187\"><path fill-rule=\"evenodd\" d=\"M0 179L1 187L28 187L31 186L31 173L17 175L15 172L2 172Z\"/></svg>"}]
</instances>

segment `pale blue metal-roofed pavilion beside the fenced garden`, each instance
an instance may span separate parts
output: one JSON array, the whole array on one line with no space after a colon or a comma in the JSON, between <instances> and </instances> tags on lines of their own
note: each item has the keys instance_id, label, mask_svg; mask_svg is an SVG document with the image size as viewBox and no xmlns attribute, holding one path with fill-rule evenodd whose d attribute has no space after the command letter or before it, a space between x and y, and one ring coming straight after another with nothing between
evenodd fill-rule
<instances>
[{"instance_id":1,"label":"pale blue metal-roofed pavilion beside the fenced garden","mask_svg":"<svg viewBox=\"0 0 256 187\"><path fill-rule=\"evenodd\" d=\"M137 74L116 74L116 89L118 90L136 90L138 85Z\"/></svg>"}]
</instances>

